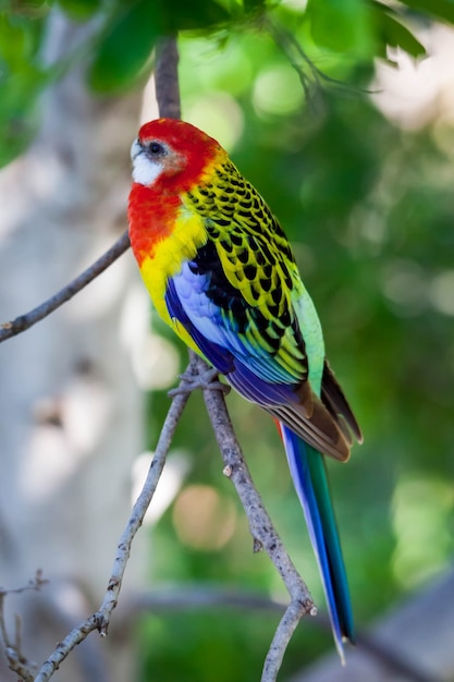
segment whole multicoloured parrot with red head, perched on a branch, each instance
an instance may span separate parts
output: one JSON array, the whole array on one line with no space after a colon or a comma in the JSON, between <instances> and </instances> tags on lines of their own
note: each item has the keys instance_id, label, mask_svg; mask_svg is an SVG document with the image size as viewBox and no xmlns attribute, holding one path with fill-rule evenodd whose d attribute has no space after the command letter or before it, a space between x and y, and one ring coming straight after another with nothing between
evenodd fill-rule
<instances>
[{"instance_id":1,"label":"whole multicoloured parrot with red head, perched on a branch","mask_svg":"<svg viewBox=\"0 0 454 682\"><path fill-rule=\"evenodd\" d=\"M363 435L289 240L196 126L145 123L131 158L130 239L144 283L177 337L278 422L344 661L354 623L326 456L345 462Z\"/></svg>"}]
</instances>

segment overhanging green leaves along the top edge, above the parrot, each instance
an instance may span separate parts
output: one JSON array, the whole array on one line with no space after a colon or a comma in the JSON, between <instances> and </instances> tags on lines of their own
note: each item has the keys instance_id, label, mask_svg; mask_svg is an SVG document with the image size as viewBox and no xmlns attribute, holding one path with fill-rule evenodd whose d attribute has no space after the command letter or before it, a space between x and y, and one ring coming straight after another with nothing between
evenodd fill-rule
<instances>
[{"instance_id":1,"label":"overhanging green leaves along the top edge, above the parrot","mask_svg":"<svg viewBox=\"0 0 454 682\"><path fill-rule=\"evenodd\" d=\"M420 57L424 48L406 24L418 16L452 22L452 7L447 0L390 5L375 0L1 0L0 167L32 141L44 88L76 62L88 64L96 90L125 92L145 82L161 35L214 34L222 44L233 32L257 34L272 19L290 35L300 33L309 52L321 49L338 64L340 54L356 65L370 64L376 56L386 57L388 46ZM86 42L63 63L49 63L41 49L52 8L93 24Z\"/></svg>"}]
</instances>

